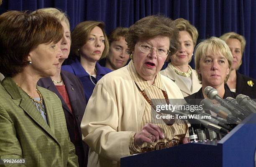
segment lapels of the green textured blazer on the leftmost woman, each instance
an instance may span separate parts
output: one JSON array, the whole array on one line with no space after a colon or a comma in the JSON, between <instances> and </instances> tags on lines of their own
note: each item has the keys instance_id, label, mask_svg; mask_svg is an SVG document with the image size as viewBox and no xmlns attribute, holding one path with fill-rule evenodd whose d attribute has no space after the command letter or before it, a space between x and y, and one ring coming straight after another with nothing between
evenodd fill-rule
<instances>
[{"instance_id":1,"label":"lapels of the green textured blazer on the leftmost woman","mask_svg":"<svg viewBox=\"0 0 256 167\"><path fill-rule=\"evenodd\" d=\"M10 96L14 100L20 100L19 106L31 117L31 119L35 121L38 124L38 126L44 129L52 138L56 140L53 133L53 109L51 107L51 103L47 100L48 97L46 95L43 95L43 91L41 91L41 88L38 87L38 90L41 92L44 99L44 106L46 107L47 121L49 125L45 122L41 114L38 112L36 106L33 104L33 102L31 101L30 97L28 97L26 92L21 90L10 77L6 78L2 82L2 85L3 87L5 87L5 90L10 94Z\"/></svg>"}]
</instances>

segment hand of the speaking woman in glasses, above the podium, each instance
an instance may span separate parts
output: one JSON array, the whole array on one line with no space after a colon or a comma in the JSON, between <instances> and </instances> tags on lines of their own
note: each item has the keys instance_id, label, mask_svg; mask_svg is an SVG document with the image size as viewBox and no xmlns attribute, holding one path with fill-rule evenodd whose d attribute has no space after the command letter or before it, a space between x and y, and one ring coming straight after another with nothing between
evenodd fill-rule
<instances>
[{"instance_id":1,"label":"hand of the speaking woman in glasses, above the podium","mask_svg":"<svg viewBox=\"0 0 256 167\"><path fill-rule=\"evenodd\" d=\"M160 127L151 123L146 124L140 132L134 135L134 145L140 146L144 142L152 143L157 140L164 139L164 133Z\"/></svg>"}]
</instances>

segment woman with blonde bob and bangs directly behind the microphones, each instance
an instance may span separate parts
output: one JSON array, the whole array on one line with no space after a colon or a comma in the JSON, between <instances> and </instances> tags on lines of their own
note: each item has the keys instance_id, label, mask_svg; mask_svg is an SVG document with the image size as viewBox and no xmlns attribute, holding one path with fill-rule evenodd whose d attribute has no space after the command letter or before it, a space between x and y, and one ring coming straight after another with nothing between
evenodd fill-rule
<instances>
[{"instance_id":1,"label":"woman with blonde bob and bangs directly behind the microphones","mask_svg":"<svg viewBox=\"0 0 256 167\"><path fill-rule=\"evenodd\" d=\"M225 83L230 75L233 57L228 45L218 37L210 37L200 42L195 49L195 70L198 80L202 83L202 88L185 97L188 103L193 103L189 99L204 99L207 95L203 92L205 87L211 86L218 91L222 98L236 97L236 93L231 92Z\"/></svg>"}]
</instances>

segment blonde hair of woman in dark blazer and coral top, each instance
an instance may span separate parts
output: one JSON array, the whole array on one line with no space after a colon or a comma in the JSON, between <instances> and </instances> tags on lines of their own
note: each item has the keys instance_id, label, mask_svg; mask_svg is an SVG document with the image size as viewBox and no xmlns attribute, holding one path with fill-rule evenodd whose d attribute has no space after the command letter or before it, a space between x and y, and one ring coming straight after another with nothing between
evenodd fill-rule
<instances>
[{"instance_id":1,"label":"blonde hair of woman in dark blazer and coral top","mask_svg":"<svg viewBox=\"0 0 256 167\"><path fill-rule=\"evenodd\" d=\"M67 24L67 26L69 27L69 30L70 30L69 19L67 17L67 14L62 12L60 9L56 9L56 8L53 8L53 7L46 7L46 8L38 9L36 11L37 12L44 12L46 14L51 14L54 17L56 17L57 19L59 19L60 21L66 22L66 24Z\"/></svg>"}]
</instances>

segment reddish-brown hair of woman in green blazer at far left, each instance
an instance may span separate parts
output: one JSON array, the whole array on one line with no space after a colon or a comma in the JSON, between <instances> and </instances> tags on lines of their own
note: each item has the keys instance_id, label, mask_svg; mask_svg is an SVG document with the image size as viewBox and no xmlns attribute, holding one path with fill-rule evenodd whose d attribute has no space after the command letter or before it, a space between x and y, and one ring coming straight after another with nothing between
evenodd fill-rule
<instances>
[{"instance_id":1,"label":"reddish-brown hair of woman in green blazer at far left","mask_svg":"<svg viewBox=\"0 0 256 167\"><path fill-rule=\"evenodd\" d=\"M0 15L0 72L13 77L28 65L28 55L40 44L57 43L61 23L45 13L8 11Z\"/></svg>"}]
</instances>

